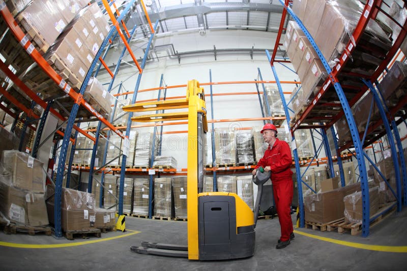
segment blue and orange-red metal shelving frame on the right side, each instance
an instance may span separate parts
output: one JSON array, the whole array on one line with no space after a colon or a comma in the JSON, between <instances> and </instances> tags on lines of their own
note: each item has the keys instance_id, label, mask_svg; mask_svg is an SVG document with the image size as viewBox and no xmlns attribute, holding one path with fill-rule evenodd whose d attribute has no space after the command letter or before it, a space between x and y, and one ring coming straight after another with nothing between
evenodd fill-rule
<instances>
[{"instance_id":1,"label":"blue and orange-red metal shelving frame on the right side","mask_svg":"<svg viewBox=\"0 0 407 271\"><path fill-rule=\"evenodd\" d=\"M401 211L401 183L400 183L400 176L398 175L399 171L398 171L398 159L397 159L397 151L396 151L396 144L397 147L400 151L400 154L402 153L402 149L401 149L401 140L400 137L398 135L398 130L397 130L397 124L394 120L393 115L395 114L395 112L397 112L402 106L405 105L405 99L407 97L404 97L400 103L392 108L392 109L387 109L388 112L386 112L383 108L382 103L386 104L385 100L381 100L381 94L380 91L376 91L372 85L372 83L375 83L376 86L377 84L377 78L382 74L382 72L386 69L386 67L388 66L388 64L390 63L390 61L393 59L394 55L396 54L397 50L399 49L402 41L404 40L405 36L406 36L406 28L407 28L407 22L404 23L404 25L400 25L401 27L401 31L399 36L397 37L396 41L393 43L392 48L390 49L390 51L387 53L385 59L382 61L382 63L377 67L376 71L373 73L373 75L370 78L364 78L364 82L366 84L366 86L364 86L361 89L356 89L359 92L350 100L348 101L346 96L344 95L343 89L338 81L338 75L341 72L342 67L344 66L344 64L346 63L346 61L348 61L350 59L350 56L352 54L352 52L355 50L355 47L357 46L359 39L362 36L363 31L365 30L365 27L368 23L368 21L371 18L375 18L377 16L377 13L382 12L385 15L387 15L381 8L380 5L382 4L382 1L374 1L374 0L370 0L367 1L367 3L365 4L364 10L363 10L363 16L361 16L361 18L359 19L359 22L353 32L353 41L350 41L347 46L346 46L346 50L344 53L342 53L341 57L339 58L340 61L335 64L334 68L331 70L331 67L329 66L329 64L327 63L326 59L324 58L324 56L322 55L321 51L319 51L317 45L315 44L313 38L310 36L308 30L304 27L303 23L301 22L301 20L296 16L296 14L294 14L294 12L292 11L292 9L290 8L290 5L292 5L292 1L282 1L279 0L280 3L284 6L284 11L282 13L282 17L281 17L281 23L280 23L280 28L279 28L279 32L277 35L277 40L276 40L276 44L275 44L275 48L277 48L279 46L279 42L280 42L280 38L281 38L281 33L283 31L283 24L285 21L285 17L287 12L292 16L292 18L294 18L294 20L300 25L301 29L304 31L306 37L308 38L308 40L310 41L310 43L312 44L312 46L314 47L315 51L317 52L319 58L322 60L324 67L328 73L328 79L326 80L326 82L324 83L323 87L321 88L321 90L315 95L314 99L312 100L312 102L309 104L309 106L305 109L305 111L303 112L303 114L300 116L300 118L296 121L296 123L294 124L293 127L290 128L292 134L294 133L295 130L297 129L303 129L303 128L323 128L324 130L327 129L331 129L332 134L334 135L334 141L335 141L335 146L336 146L336 150L337 150L337 154L340 154L340 151L348 149L349 147L353 146L355 148L355 156L356 159L358 161L358 167L359 167L359 178L360 178L360 183L361 183L361 188L362 188L362 206L363 206L363 218L362 218L362 236L366 237L369 235L369 224L372 220L374 220L376 217L370 218L369 217L369 189L368 189L368 184L367 184L367 172L366 172L366 165L365 165L365 158L367 158L369 160L369 162L375 167L373 161L371 161L371 159L364 153L363 149L364 147L373 144L377 139L383 137L385 134L388 135L388 138L391 140L390 141L390 148L392 151L392 157L393 157L393 163L395 166L395 172L396 172L396 185L397 185L397 195L395 194L396 198L397 198L397 210ZM387 15L388 16L388 15ZM275 52L275 50L274 50ZM268 59L270 62L270 65L272 67L273 70L273 74L274 77L276 79L276 81L278 81L278 76L277 73L275 71L275 67L274 67L274 63L277 62L275 60L275 53L273 52L273 55L270 56L270 54L267 52L268 55ZM283 98L283 93L281 91L281 85L278 82L277 83L279 91L280 91L280 95L283 99L283 103L284 103L284 98ZM370 91L373 93L374 95L374 99L376 102L376 105L380 108L380 113L382 116L382 120L378 121L376 124L374 124L374 128L380 126L380 125L384 125L386 128L385 132L381 132L381 133L372 133L373 128L370 129L366 129L365 133L359 133L354 117L352 115L352 111L351 111L351 107L362 97L362 95L368 90L370 89ZM340 104L341 104L341 111L337 112L335 117L328 117L328 118L321 118L321 116L319 116L318 121L320 122L325 122L325 125L321 125L321 123L319 124L312 124L312 125L306 125L305 123L307 123L307 120L310 119L315 119L314 118L314 112L315 109L319 106L319 107L323 107L324 105L322 103L320 103L322 97L324 96L324 94L326 92L330 92L330 91L335 91ZM383 98L383 97L382 97ZM284 108L286 110L286 116L287 116L287 122L289 122L289 115L288 110L286 105L284 105ZM390 114L387 114L389 113ZM338 145L336 143L336 134L335 131L333 129L333 124L339 120L340 117L342 117L343 115L345 115L347 123L350 127L350 131L351 131L351 135L352 135L352 140L353 142L348 143L347 145L338 148ZM390 122L392 123L392 126L390 127L389 125L389 121L388 118L390 119ZM308 121L309 122L309 121ZM311 123L313 123L313 121L311 121ZM405 121L404 121L405 123ZM368 124L367 124L368 125ZM391 130L393 130L394 136L396 138L396 143L392 140L393 136L391 133ZM368 138L366 138L366 136L368 136ZM326 140L326 138L324 137L324 140ZM294 146L294 154L295 154L295 160L296 160L296 168L297 168L297 179L299 182L301 182L301 176L299 176L298 174L298 155L296 152L296 147ZM329 148L328 148L329 149ZM374 149L373 149L373 153L374 153ZM338 155L338 157L340 157ZM331 157L328 156L328 159L330 160ZM406 182L407 182L407 177L406 177L406 170L405 170L405 161L403 158L403 155L400 155L400 162L401 162L401 168L402 168L402 179L403 179L403 186L404 186L404 205L407 204L406 202L406 198L407 198L407 194L406 194ZM331 162L330 162L331 164ZM341 163L339 163L339 165L341 165ZM379 174L383 177L382 173L378 170L377 167L375 167L375 169L379 172ZM341 177L343 174L343 170L341 170ZM342 178L341 178L342 180ZM384 178L384 181L386 182L386 184L390 187L390 185L388 184L387 180ZM344 185L344 183L342 182L342 186ZM302 189L301 186L299 186L299 199L300 199L300 226L304 227L304 206L303 206L303 200L302 200ZM390 208L392 208L393 206L391 206ZM383 212L387 212L389 211L390 208L387 208L387 210L384 210Z\"/></svg>"}]
</instances>

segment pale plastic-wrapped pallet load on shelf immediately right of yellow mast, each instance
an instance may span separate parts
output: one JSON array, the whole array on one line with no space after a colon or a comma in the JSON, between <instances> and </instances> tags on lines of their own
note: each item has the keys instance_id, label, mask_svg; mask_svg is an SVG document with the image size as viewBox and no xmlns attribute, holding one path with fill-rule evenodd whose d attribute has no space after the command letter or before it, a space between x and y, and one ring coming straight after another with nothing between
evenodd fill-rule
<instances>
[{"instance_id":1,"label":"pale plastic-wrapped pallet load on shelf immediately right of yellow mast","mask_svg":"<svg viewBox=\"0 0 407 271\"><path fill-rule=\"evenodd\" d=\"M228 128L215 128L215 150L217 164L236 163L235 133Z\"/></svg>"}]
</instances>

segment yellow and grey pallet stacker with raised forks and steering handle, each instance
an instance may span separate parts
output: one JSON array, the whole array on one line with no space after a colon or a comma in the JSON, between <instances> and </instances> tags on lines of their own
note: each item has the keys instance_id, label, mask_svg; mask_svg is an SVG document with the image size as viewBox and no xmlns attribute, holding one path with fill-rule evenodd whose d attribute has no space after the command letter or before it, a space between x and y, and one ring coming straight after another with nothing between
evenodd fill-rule
<instances>
[{"instance_id":1,"label":"yellow and grey pallet stacker with raised forks and steering handle","mask_svg":"<svg viewBox=\"0 0 407 271\"><path fill-rule=\"evenodd\" d=\"M190 260L222 260L250 257L254 253L255 223L263 184L270 178L260 173L255 212L235 193L202 193L204 134L208 131L205 93L196 80L188 81L186 99L160 100L124 106L124 111L188 109L186 112L132 117L137 122L188 120L187 218L188 245L142 242L131 251L141 254L188 257ZM263 178L261 178L263 177Z\"/></svg>"}]
</instances>

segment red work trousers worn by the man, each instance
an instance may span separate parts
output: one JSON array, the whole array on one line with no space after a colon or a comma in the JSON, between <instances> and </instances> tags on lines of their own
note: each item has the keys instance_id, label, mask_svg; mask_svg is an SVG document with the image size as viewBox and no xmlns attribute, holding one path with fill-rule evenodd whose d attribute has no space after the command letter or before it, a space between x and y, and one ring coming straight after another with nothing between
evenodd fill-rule
<instances>
[{"instance_id":1,"label":"red work trousers worn by the man","mask_svg":"<svg viewBox=\"0 0 407 271\"><path fill-rule=\"evenodd\" d=\"M274 201L276 203L278 221L280 222L281 241L289 240L294 231L291 220L291 204L293 201L293 179L278 180L273 183Z\"/></svg>"}]
</instances>

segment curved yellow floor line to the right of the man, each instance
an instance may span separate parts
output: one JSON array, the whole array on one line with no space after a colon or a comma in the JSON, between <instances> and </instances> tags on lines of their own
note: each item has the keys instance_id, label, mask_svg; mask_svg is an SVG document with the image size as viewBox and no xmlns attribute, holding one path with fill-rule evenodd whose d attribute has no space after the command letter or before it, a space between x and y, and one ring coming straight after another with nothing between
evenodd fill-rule
<instances>
[{"instance_id":1,"label":"curved yellow floor line to the right of the man","mask_svg":"<svg viewBox=\"0 0 407 271\"><path fill-rule=\"evenodd\" d=\"M378 246L378 245L367 245L367 244L360 244L360 243L354 243L354 242L347 242L347 241L340 241L336 239L331 239L331 238L326 238L310 233L305 233L302 231L294 230L295 233L322 240L325 242L330 242L342 246L347 246L347 247L353 247L353 248L360 248L360 249L366 249L366 250L374 250L374 251L383 251L383 252L398 252L398 253L407 253L407 246Z\"/></svg>"}]
</instances>

